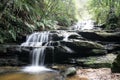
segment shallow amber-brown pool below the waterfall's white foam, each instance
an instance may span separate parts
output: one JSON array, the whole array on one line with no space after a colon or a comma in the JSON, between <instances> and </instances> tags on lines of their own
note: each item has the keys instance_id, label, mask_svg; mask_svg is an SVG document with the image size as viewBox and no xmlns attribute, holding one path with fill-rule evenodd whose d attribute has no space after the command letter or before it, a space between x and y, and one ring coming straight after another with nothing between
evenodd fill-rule
<instances>
[{"instance_id":1,"label":"shallow amber-brown pool below the waterfall's white foam","mask_svg":"<svg viewBox=\"0 0 120 80\"><path fill-rule=\"evenodd\" d=\"M19 69L0 68L0 80L62 80L57 71L42 71L40 73L28 73Z\"/></svg>"}]
</instances>

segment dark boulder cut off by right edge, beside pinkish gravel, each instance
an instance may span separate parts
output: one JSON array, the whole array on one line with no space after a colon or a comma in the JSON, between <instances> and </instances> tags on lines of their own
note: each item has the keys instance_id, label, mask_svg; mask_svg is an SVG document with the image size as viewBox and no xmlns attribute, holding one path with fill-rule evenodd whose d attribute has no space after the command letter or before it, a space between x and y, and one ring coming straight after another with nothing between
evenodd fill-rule
<instances>
[{"instance_id":1,"label":"dark boulder cut off by right edge, beside pinkish gravel","mask_svg":"<svg viewBox=\"0 0 120 80\"><path fill-rule=\"evenodd\" d=\"M120 53L118 54L117 58L114 60L112 64L112 72L120 73Z\"/></svg>"}]
</instances>

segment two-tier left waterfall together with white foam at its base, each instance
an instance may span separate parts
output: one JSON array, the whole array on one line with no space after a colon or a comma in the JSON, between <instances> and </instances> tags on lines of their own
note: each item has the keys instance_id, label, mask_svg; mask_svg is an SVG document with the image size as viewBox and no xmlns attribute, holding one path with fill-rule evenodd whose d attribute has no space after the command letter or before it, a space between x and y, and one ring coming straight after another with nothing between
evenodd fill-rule
<instances>
[{"instance_id":1,"label":"two-tier left waterfall together with white foam at its base","mask_svg":"<svg viewBox=\"0 0 120 80\"><path fill-rule=\"evenodd\" d=\"M47 69L44 67L44 59L45 59L45 46L42 46L43 42L49 41L49 32L35 32L32 35L30 35L27 39L27 41L21 46L23 47L37 47L34 48L31 52L32 54L32 65L25 67L23 71L25 72L41 72L41 71L48 71L50 69Z\"/></svg>"}]
</instances>

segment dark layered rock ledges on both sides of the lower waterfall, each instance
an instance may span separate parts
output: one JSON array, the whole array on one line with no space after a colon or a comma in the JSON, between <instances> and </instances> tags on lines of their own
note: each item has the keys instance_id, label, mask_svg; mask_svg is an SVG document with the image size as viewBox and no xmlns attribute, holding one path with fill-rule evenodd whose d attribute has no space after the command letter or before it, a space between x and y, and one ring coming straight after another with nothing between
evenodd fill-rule
<instances>
[{"instance_id":1,"label":"dark layered rock ledges on both sides of the lower waterfall","mask_svg":"<svg viewBox=\"0 0 120 80\"><path fill-rule=\"evenodd\" d=\"M49 38L51 41L42 43L42 46L47 47L45 64L74 63L85 67L111 67L115 56L108 55L120 51L120 32L60 30L50 31ZM36 47L1 45L0 66L30 64L30 53L34 48ZM117 59L113 67L118 64Z\"/></svg>"}]
</instances>

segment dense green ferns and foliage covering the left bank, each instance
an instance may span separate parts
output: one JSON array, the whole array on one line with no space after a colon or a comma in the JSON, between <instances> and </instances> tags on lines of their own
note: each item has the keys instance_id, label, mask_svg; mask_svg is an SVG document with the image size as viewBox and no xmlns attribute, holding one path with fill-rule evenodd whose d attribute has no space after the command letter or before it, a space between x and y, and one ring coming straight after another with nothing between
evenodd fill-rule
<instances>
[{"instance_id":1,"label":"dense green ferns and foliage covering the left bank","mask_svg":"<svg viewBox=\"0 0 120 80\"><path fill-rule=\"evenodd\" d=\"M69 26L73 14L73 0L0 0L0 43L56 29L59 23Z\"/></svg>"}]
</instances>

